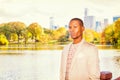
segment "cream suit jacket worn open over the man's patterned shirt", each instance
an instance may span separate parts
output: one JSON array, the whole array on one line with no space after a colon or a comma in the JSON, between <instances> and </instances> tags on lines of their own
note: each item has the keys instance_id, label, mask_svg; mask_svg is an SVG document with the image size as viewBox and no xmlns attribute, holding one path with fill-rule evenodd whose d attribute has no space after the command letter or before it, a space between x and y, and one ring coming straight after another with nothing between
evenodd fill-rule
<instances>
[{"instance_id":1,"label":"cream suit jacket worn open over the man's patterned shirt","mask_svg":"<svg viewBox=\"0 0 120 80\"><path fill-rule=\"evenodd\" d=\"M67 55L72 43L67 45L62 52L60 80L65 80ZM97 48L81 41L71 62L70 80L100 80L99 57Z\"/></svg>"}]
</instances>

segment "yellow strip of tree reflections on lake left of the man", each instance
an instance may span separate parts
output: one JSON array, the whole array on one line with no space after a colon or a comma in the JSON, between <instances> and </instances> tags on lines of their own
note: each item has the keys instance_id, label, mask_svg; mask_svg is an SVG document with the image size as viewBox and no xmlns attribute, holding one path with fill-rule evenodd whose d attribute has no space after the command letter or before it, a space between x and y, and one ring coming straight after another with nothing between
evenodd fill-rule
<instances>
[{"instance_id":1,"label":"yellow strip of tree reflections on lake left of the man","mask_svg":"<svg viewBox=\"0 0 120 80\"><path fill-rule=\"evenodd\" d=\"M53 44L14 44L0 46L0 50L61 50L64 45Z\"/></svg>"}]
</instances>

